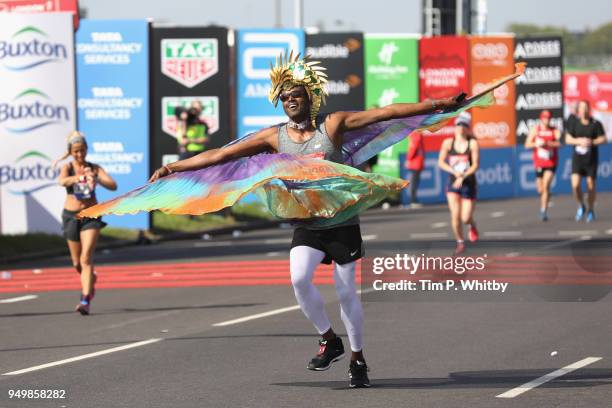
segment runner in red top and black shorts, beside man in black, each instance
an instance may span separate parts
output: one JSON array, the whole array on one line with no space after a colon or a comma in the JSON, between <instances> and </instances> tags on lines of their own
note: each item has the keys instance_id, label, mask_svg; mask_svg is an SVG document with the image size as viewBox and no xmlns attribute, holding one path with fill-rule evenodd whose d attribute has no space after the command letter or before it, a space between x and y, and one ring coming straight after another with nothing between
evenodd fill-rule
<instances>
[{"instance_id":1,"label":"runner in red top and black shorts, beside man in black","mask_svg":"<svg viewBox=\"0 0 612 408\"><path fill-rule=\"evenodd\" d=\"M558 148L561 146L561 132L551 126L549 110L540 113L540 123L527 136L525 147L533 149L533 164L536 170L536 185L540 194L540 220L548 221L550 185L559 162Z\"/></svg>"}]
</instances>

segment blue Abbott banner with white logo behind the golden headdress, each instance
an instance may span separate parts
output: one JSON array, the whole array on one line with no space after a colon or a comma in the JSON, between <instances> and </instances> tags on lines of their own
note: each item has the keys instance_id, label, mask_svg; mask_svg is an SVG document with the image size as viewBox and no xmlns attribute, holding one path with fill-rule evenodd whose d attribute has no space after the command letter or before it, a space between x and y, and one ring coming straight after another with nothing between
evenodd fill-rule
<instances>
[{"instance_id":1,"label":"blue Abbott banner with white logo behind the golden headdress","mask_svg":"<svg viewBox=\"0 0 612 408\"><path fill-rule=\"evenodd\" d=\"M304 52L302 30L238 31L238 134L243 137L264 127L287 120L280 104L275 109L268 101L270 63L280 53Z\"/></svg>"}]
</instances>

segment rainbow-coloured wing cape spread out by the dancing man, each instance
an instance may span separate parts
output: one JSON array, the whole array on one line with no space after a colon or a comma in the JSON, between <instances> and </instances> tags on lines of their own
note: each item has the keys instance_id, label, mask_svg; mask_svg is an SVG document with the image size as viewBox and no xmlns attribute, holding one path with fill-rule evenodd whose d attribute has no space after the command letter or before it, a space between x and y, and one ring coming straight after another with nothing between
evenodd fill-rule
<instances>
[{"instance_id":1,"label":"rainbow-coloured wing cape spread out by the dancing man","mask_svg":"<svg viewBox=\"0 0 612 408\"><path fill-rule=\"evenodd\" d=\"M364 173L351 166L365 162L414 130L435 131L466 109L494 103L493 89L523 71L524 65L517 64L514 74L492 82L453 111L379 122L345 133L342 147L345 164L285 153L258 154L172 174L87 208L79 216L152 210L199 215L230 207L246 194L255 193L264 207L278 218L308 220L317 227L333 226L408 184L394 177Z\"/></svg>"}]
</instances>

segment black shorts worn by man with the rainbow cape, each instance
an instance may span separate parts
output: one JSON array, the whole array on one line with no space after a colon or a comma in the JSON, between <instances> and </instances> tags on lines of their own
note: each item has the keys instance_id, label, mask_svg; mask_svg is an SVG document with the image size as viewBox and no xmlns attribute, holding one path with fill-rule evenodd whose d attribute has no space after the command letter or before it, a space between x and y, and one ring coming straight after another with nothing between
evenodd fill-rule
<instances>
[{"instance_id":1,"label":"black shorts worn by man with the rainbow cape","mask_svg":"<svg viewBox=\"0 0 612 408\"><path fill-rule=\"evenodd\" d=\"M293 232L291 248L307 246L325 252L324 264L332 261L339 265L356 261L363 257L363 241L359 225L329 228L324 230L311 230L296 228Z\"/></svg>"}]
</instances>

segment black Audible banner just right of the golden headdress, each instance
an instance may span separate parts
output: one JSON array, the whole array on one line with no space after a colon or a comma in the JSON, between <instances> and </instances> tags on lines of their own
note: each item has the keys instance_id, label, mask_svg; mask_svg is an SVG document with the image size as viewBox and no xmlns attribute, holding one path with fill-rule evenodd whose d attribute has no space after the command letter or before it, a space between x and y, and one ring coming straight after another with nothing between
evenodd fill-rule
<instances>
[{"instance_id":1,"label":"black Audible banner just right of the golden headdress","mask_svg":"<svg viewBox=\"0 0 612 408\"><path fill-rule=\"evenodd\" d=\"M322 112L364 109L362 33L307 35L306 55L327 68L329 97Z\"/></svg>"}]
</instances>

